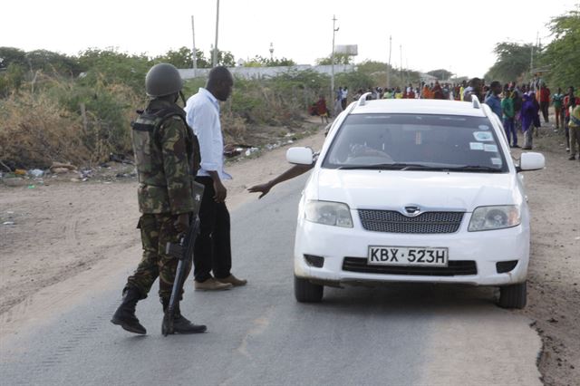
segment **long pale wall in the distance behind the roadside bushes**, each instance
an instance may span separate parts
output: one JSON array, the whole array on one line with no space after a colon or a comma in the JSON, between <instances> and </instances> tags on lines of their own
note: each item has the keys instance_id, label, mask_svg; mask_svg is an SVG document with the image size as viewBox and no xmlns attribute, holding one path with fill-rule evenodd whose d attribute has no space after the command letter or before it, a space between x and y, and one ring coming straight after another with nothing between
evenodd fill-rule
<instances>
[{"instance_id":1,"label":"long pale wall in the distance behind the roadside bushes","mask_svg":"<svg viewBox=\"0 0 580 386\"><path fill-rule=\"evenodd\" d=\"M182 68L179 69L179 74L183 79L192 78L207 78L209 68L198 68L194 70L192 68ZM229 71L232 72L234 76L245 78L245 79L261 79L261 78L272 78L281 73L295 72L295 71L314 71L325 73L330 75L332 72L332 66L330 65L309 65L300 64L293 66L279 66L279 67L230 67ZM352 72L356 70L356 66L353 64L334 64L334 73L340 72Z\"/></svg>"}]
</instances>

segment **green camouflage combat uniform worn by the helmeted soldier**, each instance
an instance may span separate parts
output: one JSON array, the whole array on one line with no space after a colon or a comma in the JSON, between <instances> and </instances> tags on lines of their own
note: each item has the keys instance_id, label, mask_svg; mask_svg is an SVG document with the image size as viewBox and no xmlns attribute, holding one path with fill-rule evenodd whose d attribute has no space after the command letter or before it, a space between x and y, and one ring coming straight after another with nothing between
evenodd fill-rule
<instances>
[{"instance_id":1,"label":"green camouflage combat uniform worn by the helmeted soldier","mask_svg":"<svg viewBox=\"0 0 580 386\"><path fill-rule=\"evenodd\" d=\"M160 115L155 121L158 129L147 130L151 125L143 124L148 122L143 117L156 112ZM178 215L197 212L193 176L198 164L198 159L194 159L199 154L195 149L198 145L192 130L179 115L183 115L183 110L176 104L153 100L145 115L141 114L132 125L140 182L138 198L142 216L138 227L143 256L137 270L127 279L126 288L137 288L141 299L147 297L158 276L160 298L169 299L178 259L166 254L165 246L179 241L179 232L174 227ZM189 262L186 277L190 270Z\"/></svg>"}]
</instances>

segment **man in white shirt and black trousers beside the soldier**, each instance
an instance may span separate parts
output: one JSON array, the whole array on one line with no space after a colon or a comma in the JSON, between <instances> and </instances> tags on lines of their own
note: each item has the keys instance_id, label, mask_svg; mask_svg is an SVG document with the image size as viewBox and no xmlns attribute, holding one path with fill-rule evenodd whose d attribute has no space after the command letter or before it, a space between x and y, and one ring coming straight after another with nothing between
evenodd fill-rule
<instances>
[{"instance_id":1,"label":"man in white shirt and black trousers beside the soldier","mask_svg":"<svg viewBox=\"0 0 580 386\"><path fill-rule=\"evenodd\" d=\"M201 153L201 169L196 181L205 187L199 208L200 231L193 256L197 290L224 290L247 284L246 280L238 279L230 272L232 259L227 189L222 183L223 179L231 179L231 176L224 170L219 101L227 101L233 86L234 78L227 68L215 67L209 72L206 88L199 88L185 107L188 124L198 137Z\"/></svg>"}]
</instances>

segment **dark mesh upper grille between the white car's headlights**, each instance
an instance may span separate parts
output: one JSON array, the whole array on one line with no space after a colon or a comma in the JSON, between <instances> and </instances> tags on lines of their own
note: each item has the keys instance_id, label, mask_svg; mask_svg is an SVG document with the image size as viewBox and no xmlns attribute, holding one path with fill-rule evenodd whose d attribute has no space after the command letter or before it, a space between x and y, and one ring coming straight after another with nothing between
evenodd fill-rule
<instances>
[{"instance_id":1,"label":"dark mesh upper grille between the white car's headlights","mask_svg":"<svg viewBox=\"0 0 580 386\"><path fill-rule=\"evenodd\" d=\"M387 233L454 233L463 219L463 212L425 212L406 217L395 210L359 209L362 227Z\"/></svg>"}]
</instances>

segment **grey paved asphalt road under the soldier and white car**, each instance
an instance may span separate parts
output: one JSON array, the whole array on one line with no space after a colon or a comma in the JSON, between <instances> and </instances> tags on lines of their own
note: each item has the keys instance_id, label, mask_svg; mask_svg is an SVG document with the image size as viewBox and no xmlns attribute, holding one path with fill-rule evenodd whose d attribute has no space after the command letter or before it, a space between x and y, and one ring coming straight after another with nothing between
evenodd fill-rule
<instances>
[{"instance_id":1,"label":"grey paved asphalt road under the soldier and white car","mask_svg":"<svg viewBox=\"0 0 580 386\"><path fill-rule=\"evenodd\" d=\"M304 180L232 213L234 273L247 287L197 293L189 278L182 312L208 333L161 336L154 293L137 307L148 335L112 325L123 270L111 274L117 285L5 339L0 384L541 384L539 338L494 305L491 288L327 288L324 303L297 304L291 256ZM127 258L136 265L137 255Z\"/></svg>"}]
</instances>

